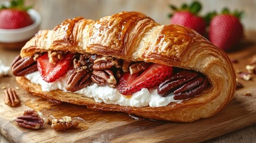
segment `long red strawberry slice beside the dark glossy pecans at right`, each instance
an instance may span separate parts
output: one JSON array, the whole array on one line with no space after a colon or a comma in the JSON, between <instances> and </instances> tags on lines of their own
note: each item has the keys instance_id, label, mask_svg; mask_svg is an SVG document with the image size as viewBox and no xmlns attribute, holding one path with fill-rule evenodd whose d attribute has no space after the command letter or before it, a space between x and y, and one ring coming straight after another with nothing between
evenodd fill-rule
<instances>
[{"instance_id":1,"label":"long red strawberry slice beside the dark glossy pecans at right","mask_svg":"<svg viewBox=\"0 0 256 143\"><path fill-rule=\"evenodd\" d=\"M173 67L162 64L152 64L141 74L122 74L118 89L122 95L131 95L143 88L158 86L167 77L172 75Z\"/></svg>"}]
</instances>

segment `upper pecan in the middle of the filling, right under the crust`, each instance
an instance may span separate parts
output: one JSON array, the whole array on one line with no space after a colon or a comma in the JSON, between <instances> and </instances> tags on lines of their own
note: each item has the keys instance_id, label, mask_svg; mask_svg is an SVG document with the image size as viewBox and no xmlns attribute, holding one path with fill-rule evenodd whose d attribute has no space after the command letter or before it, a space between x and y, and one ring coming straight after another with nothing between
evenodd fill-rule
<instances>
[{"instance_id":1,"label":"upper pecan in the middle of the filling, right under the crust","mask_svg":"<svg viewBox=\"0 0 256 143\"><path fill-rule=\"evenodd\" d=\"M110 69L113 66L120 68L121 60L118 60L113 57L102 57L94 60L92 69L94 70L106 70Z\"/></svg>"}]
</instances>

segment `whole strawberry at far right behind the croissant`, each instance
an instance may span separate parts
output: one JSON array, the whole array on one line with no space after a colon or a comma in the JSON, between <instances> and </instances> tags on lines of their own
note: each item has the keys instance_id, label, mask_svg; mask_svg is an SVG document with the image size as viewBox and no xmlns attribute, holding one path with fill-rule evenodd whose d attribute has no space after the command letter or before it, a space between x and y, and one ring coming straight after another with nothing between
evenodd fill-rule
<instances>
[{"instance_id":1,"label":"whole strawberry at far right behind the croissant","mask_svg":"<svg viewBox=\"0 0 256 143\"><path fill-rule=\"evenodd\" d=\"M227 8L222 14L215 15L209 23L209 41L224 51L230 51L243 37L241 15L238 11L231 14Z\"/></svg>"}]
</instances>

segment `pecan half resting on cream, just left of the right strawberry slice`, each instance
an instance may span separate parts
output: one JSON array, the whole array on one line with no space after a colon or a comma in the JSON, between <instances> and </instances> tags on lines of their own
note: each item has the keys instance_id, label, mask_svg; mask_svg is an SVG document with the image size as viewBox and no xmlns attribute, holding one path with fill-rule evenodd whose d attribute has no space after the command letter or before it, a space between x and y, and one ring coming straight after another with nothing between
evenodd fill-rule
<instances>
[{"instance_id":1,"label":"pecan half resting on cream, just left of the right strawberry slice","mask_svg":"<svg viewBox=\"0 0 256 143\"><path fill-rule=\"evenodd\" d=\"M116 78L111 70L94 70L92 71L91 80L94 83L97 83L99 86L109 85L112 88L116 87Z\"/></svg>"}]
</instances>

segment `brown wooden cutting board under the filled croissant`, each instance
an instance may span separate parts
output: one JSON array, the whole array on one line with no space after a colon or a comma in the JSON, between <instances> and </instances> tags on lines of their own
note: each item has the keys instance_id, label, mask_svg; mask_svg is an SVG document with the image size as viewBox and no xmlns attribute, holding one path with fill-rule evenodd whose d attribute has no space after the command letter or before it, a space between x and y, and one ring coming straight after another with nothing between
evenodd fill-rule
<instances>
[{"instance_id":1,"label":"brown wooden cutting board under the filled croissant","mask_svg":"<svg viewBox=\"0 0 256 143\"><path fill-rule=\"evenodd\" d=\"M238 47L243 49L230 53L229 57L239 61L234 64L235 70L246 71L249 59L256 54L256 44L247 40ZM252 78L249 81L239 79L244 88L238 89L235 98L214 117L192 123L174 123L125 113L92 111L85 106L67 103L55 105L19 88L14 76L3 77L0 88L19 88L17 94L21 104L18 107L5 105L3 89L0 89L0 129L2 135L12 142L202 142L256 123L256 75ZM243 95L247 91L252 95ZM64 132L55 131L48 124L39 130L18 127L14 119L31 108L39 111L45 119L70 116L81 123L78 128Z\"/></svg>"}]
</instances>

